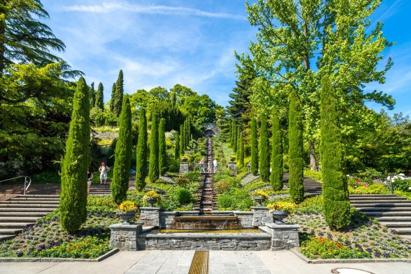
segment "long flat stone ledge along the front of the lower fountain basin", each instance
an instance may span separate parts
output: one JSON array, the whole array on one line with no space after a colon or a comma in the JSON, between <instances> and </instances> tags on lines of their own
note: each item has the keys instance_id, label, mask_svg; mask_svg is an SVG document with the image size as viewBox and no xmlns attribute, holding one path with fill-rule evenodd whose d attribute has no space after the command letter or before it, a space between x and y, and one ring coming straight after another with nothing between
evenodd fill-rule
<instances>
[{"instance_id":1,"label":"long flat stone ledge along the front of the lower fountain basin","mask_svg":"<svg viewBox=\"0 0 411 274\"><path fill-rule=\"evenodd\" d=\"M271 235L265 233L142 233L145 238L227 238L227 239L271 239Z\"/></svg>"}]
</instances>

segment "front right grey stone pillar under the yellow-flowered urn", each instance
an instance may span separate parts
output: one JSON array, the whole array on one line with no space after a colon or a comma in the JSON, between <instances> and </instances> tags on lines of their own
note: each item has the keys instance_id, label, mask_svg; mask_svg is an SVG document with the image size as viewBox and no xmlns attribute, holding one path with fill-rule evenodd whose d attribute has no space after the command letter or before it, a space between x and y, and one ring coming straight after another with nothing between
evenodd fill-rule
<instances>
[{"instance_id":1,"label":"front right grey stone pillar under the yellow-flowered urn","mask_svg":"<svg viewBox=\"0 0 411 274\"><path fill-rule=\"evenodd\" d=\"M300 239L298 238L299 225L287 224L266 224L267 232L272 236L271 250L290 249L300 246Z\"/></svg>"}]
</instances>

